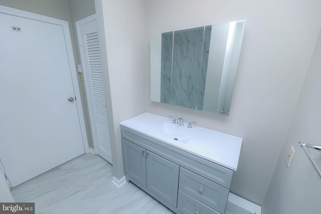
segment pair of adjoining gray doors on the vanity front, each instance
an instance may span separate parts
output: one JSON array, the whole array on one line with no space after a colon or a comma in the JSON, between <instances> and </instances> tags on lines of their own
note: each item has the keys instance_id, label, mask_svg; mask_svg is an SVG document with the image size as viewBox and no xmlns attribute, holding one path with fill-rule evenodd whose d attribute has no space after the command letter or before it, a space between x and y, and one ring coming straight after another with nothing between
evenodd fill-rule
<instances>
[{"instance_id":1,"label":"pair of adjoining gray doors on the vanity front","mask_svg":"<svg viewBox=\"0 0 321 214\"><path fill-rule=\"evenodd\" d=\"M127 182L144 187L157 198L177 206L180 166L122 139Z\"/></svg>"}]
</instances>

